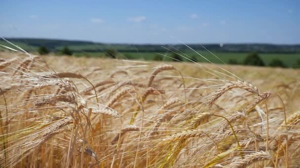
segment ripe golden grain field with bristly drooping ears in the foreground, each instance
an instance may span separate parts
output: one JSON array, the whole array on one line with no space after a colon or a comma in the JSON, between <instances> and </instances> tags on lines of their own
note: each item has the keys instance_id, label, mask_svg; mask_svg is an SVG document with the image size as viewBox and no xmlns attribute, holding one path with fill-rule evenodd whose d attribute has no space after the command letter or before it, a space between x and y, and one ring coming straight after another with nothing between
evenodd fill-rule
<instances>
[{"instance_id":1,"label":"ripe golden grain field with bristly drooping ears in the foreground","mask_svg":"<svg viewBox=\"0 0 300 168\"><path fill-rule=\"evenodd\" d=\"M299 70L0 58L1 168L300 166Z\"/></svg>"}]
</instances>

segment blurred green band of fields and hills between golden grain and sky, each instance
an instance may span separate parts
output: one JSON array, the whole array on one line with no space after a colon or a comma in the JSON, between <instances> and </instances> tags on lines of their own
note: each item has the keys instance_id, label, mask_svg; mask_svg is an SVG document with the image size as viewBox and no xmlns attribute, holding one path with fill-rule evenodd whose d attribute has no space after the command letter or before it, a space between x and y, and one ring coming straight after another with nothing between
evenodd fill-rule
<instances>
[{"instance_id":1,"label":"blurred green band of fields and hills between golden grain and sky","mask_svg":"<svg viewBox=\"0 0 300 168\"><path fill-rule=\"evenodd\" d=\"M82 42L82 41L66 41L66 40L49 40L49 39L19 39L14 40L11 39L15 45L21 47L22 49L38 54L39 46L46 46L49 51L51 51L51 55L62 55L60 52L64 46L68 46L68 48L73 52L73 56L86 56L86 57L106 57L105 51L107 49L113 49L118 54L118 58L124 59L140 59L140 60L153 60L154 56L162 54L166 56L162 56L162 60L164 61L172 61L171 58L167 56L171 56L171 52L167 49L162 48L160 45L131 45L131 44L103 44L103 43L92 43L92 42ZM0 40L0 44L16 49L16 47L10 45L9 43ZM166 45L168 46L168 45ZM209 45L208 45L209 46ZM263 45L263 44L236 44L230 45L226 50L220 51L219 48L211 48L210 51L218 56L222 61L228 63L229 59L234 59L238 64L243 64L244 59L249 53L253 52L253 49L259 48L258 53L259 56L263 59L265 65L268 65L273 59L280 59L283 61L285 66L293 67L297 63L300 62L300 52L298 50L299 45L294 46L272 46L272 45ZM249 46L252 47L249 50ZM271 46L271 47L270 47ZM199 48L199 45L191 45L193 49L195 49L199 54L191 51L190 49L184 48L182 45L174 45L173 47L180 49L184 54L181 55L185 57L192 57L199 62L208 62L202 56L209 59L214 63L223 63L216 56L213 56L209 52ZM216 47L216 46L213 46ZM277 50L280 48L280 50ZM294 50L294 49L297 50ZM3 47L0 47L0 50L3 50ZM240 50L240 52L232 52L231 50ZM224 49L222 49L224 50ZM261 52L260 52L261 51ZM157 53L159 54L157 54ZM180 53L179 53L180 54ZM188 56L186 56L188 55ZM183 58L183 61L188 61L188 59Z\"/></svg>"}]
</instances>

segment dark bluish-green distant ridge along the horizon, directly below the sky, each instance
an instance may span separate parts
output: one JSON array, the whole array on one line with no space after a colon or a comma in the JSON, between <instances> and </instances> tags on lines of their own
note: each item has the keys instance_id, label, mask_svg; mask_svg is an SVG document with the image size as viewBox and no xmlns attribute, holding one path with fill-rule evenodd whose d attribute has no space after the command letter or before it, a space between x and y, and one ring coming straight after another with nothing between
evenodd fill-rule
<instances>
[{"instance_id":1,"label":"dark bluish-green distant ridge along the horizon, directly below the sky","mask_svg":"<svg viewBox=\"0 0 300 168\"><path fill-rule=\"evenodd\" d=\"M113 48L119 52L165 52L164 46L170 50L174 48L187 51L187 46L183 44L108 44L95 43L79 40L59 40L59 39L37 39L37 38L6 38L6 40L22 47L28 52L36 51L38 47L44 46L50 51L59 51L64 46L68 46L73 52L103 52ZM0 44L8 45L3 39ZM259 52L259 53L300 53L299 45L278 45L278 44L202 44L207 50L212 52ZM205 50L201 44L188 44L194 50ZM9 45L8 45L9 46Z\"/></svg>"}]
</instances>

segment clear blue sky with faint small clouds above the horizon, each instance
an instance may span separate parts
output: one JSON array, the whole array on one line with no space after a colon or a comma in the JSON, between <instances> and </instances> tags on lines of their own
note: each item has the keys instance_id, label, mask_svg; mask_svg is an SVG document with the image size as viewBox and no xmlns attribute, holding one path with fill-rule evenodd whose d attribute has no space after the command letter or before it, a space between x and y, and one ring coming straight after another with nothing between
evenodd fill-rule
<instances>
[{"instance_id":1,"label":"clear blue sky with faint small clouds above the horizon","mask_svg":"<svg viewBox=\"0 0 300 168\"><path fill-rule=\"evenodd\" d=\"M1 0L0 36L300 44L300 0Z\"/></svg>"}]
</instances>

